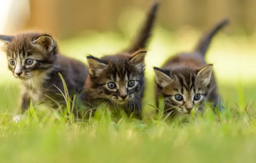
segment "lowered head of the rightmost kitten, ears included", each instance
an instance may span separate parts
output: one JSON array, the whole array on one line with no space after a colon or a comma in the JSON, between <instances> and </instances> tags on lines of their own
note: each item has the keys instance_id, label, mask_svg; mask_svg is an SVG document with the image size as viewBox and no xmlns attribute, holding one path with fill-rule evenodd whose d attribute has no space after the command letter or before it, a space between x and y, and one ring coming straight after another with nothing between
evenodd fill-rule
<instances>
[{"instance_id":1,"label":"lowered head of the rightmost kitten, ears included","mask_svg":"<svg viewBox=\"0 0 256 163\"><path fill-rule=\"evenodd\" d=\"M202 69L177 66L167 70L154 67L155 82L165 97L165 105L183 114L192 110L196 112L210 91L212 70L212 64Z\"/></svg>"}]
</instances>

